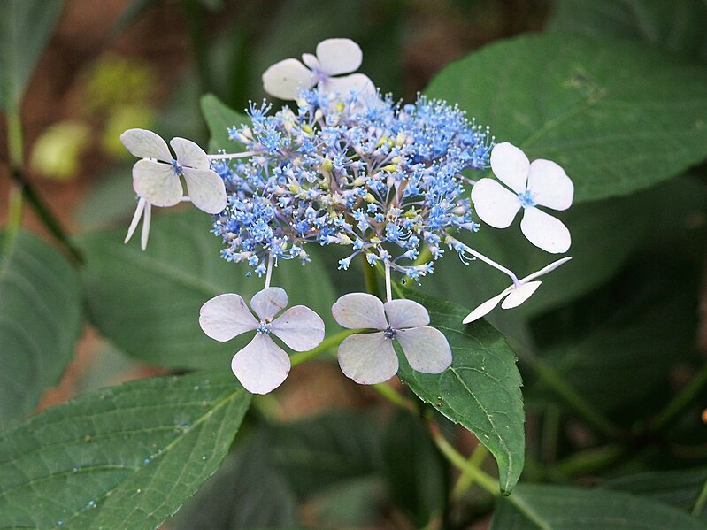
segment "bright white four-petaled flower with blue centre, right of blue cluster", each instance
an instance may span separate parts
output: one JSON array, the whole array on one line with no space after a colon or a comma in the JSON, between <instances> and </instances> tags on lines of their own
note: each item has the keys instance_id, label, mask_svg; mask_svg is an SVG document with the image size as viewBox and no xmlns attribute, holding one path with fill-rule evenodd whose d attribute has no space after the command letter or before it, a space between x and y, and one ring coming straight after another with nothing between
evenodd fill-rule
<instances>
[{"instance_id":1,"label":"bright white four-petaled flower with blue centre, right of blue cluster","mask_svg":"<svg viewBox=\"0 0 707 530\"><path fill-rule=\"evenodd\" d=\"M520 230L536 247L553 254L566 252L572 239L567 227L536 206L566 210L572 204L574 187L565 170L550 160L531 164L526 154L511 143L499 143L491 151L491 169L506 186L493 179L474 184L472 201L480 219L496 228L511 225L523 208Z\"/></svg>"}]
</instances>

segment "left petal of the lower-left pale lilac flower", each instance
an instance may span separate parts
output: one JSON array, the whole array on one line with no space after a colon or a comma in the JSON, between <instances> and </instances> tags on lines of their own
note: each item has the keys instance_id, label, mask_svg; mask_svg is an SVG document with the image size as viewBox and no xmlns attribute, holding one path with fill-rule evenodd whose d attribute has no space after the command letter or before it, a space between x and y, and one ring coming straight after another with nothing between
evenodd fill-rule
<instances>
[{"instance_id":1,"label":"left petal of the lower-left pale lilac flower","mask_svg":"<svg viewBox=\"0 0 707 530\"><path fill-rule=\"evenodd\" d=\"M256 329L257 320L248 311L241 296L234 293L214 296L199 311L199 326L204 333L219 342Z\"/></svg>"}]
</instances>

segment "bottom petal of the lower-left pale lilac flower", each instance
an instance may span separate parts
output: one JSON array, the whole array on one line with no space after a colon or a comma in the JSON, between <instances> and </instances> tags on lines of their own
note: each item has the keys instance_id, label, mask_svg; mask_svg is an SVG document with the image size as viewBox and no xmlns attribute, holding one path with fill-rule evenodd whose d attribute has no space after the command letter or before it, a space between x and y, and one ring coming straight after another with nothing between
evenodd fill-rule
<instances>
[{"instance_id":1,"label":"bottom petal of the lower-left pale lilac flower","mask_svg":"<svg viewBox=\"0 0 707 530\"><path fill-rule=\"evenodd\" d=\"M290 366L285 350L261 333L231 360L235 377L252 394L267 394L278 388L288 377Z\"/></svg>"}]
</instances>

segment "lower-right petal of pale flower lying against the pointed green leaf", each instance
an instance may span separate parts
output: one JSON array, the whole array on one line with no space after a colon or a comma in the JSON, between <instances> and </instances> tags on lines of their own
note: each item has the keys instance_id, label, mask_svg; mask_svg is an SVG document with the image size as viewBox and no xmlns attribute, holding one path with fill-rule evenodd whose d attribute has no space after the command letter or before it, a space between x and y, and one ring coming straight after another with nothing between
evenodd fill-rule
<instances>
[{"instance_id":1,"label":"lower-right petal of pale flower lying against the pointed green leaf","mask_svg":"<svg viewBox=\"0 0 707 530\"><path fill-rule=\"evenodd\" d=\"M396 339L413 370L422 373L444 372L451 365L451 349L447 337L431 326L402 329Z\"/></svg>"}]
</instances>

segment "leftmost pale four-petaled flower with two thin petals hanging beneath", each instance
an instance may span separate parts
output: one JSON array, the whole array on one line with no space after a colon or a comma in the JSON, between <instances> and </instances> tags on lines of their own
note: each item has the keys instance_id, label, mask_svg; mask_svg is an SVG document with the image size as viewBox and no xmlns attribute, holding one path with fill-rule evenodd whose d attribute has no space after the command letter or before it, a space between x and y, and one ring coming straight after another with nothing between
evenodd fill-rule
<instances>
[{"instance_id":1,"label":"leftmost pale four-petaled flower with two thin petals hanging beneath","mask_svg":"<svg viewBox=\"0 0 707 530\"><path fill-rule=\"evenodd\" d=\"M144 213L142 250L150 235L151 207L173 206L183 197L180 177L187 183L188 200L207 213L219 213L226 208L226 186L219 173L211 170L209 156L196 143L184 138L167 143L158 134L145 129L128 129L120 134L120 142L135 157L142 158L133 166L133 188L140 197L133 220L127 229L128 242Z\"/></svg>"}]
</instances>

